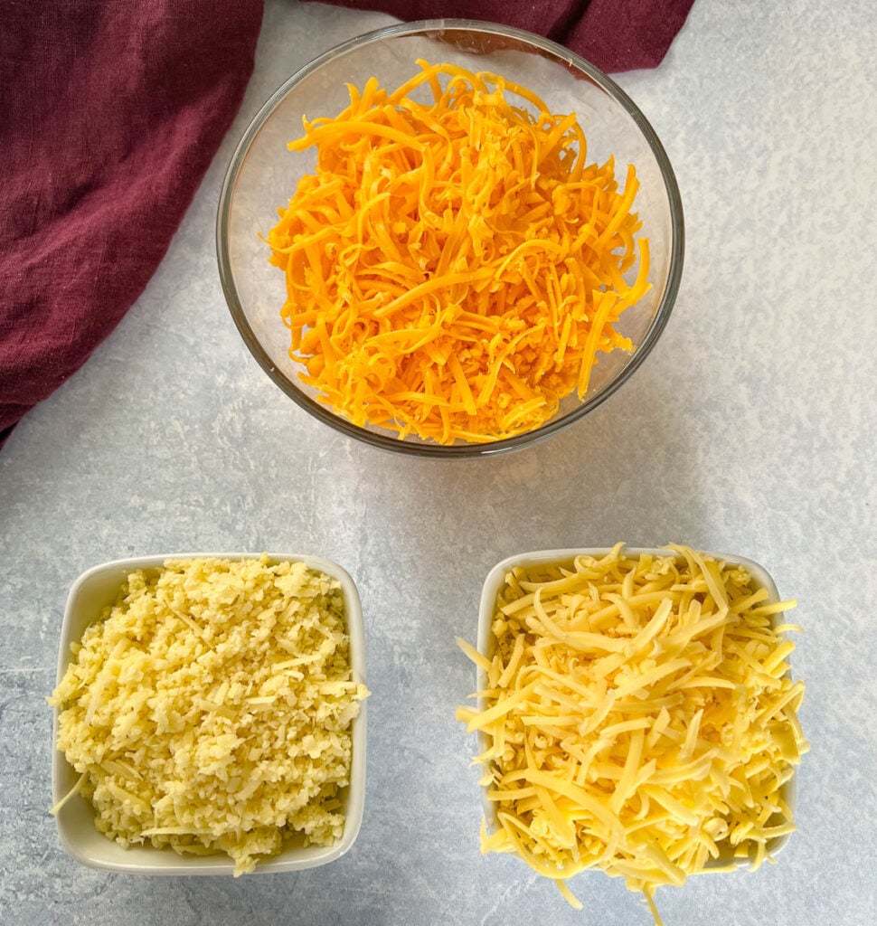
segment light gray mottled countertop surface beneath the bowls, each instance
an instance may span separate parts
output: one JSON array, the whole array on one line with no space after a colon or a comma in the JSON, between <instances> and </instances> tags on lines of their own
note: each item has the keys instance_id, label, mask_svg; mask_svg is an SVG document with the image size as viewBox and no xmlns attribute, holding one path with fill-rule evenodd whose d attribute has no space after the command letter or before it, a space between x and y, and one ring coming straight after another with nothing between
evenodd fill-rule
<instances>
[{"instance_id":1,"label":"light gray mottled countertop surface beneath the bowls","mask_svg":"<svg viewBox=\"0 0 877 926\"><path fill-rule=\"evenodd\" d=\"M877 19L867 0L698 0L655 71L620 76L676 170L683 288L620 394L545 444L472 462L395 457L295 407L250 357L214 256L236 138L294 69L389 21L269 2L244 106L118 330L0 454L0 920L4 923L650 923L617 880L585 909L481 857L475 744L454 720L482 580L552 546L678 541L757 559L796 596L813 748L776 866L658 892L667 926L877 922L873 286ZM357 844L296 875L148 879L73 863L50 803L56 644L96 563L181 550L342 563L368 635Z\"/></svg>"}]
</instances>

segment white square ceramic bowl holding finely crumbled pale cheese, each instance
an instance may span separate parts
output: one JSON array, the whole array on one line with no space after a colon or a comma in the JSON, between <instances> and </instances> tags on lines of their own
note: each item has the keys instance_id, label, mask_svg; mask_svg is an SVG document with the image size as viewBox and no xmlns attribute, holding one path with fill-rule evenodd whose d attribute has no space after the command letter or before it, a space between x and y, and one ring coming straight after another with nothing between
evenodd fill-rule
<instances>
[{"instance_id":1,"label":"white square ceramic bowl holding finely crumbled pale cheese","mask_svg":"<svg viewBox=\"0 0 877 926\"><path fill-rule=\"evenodd\" d=\"M70 644L81 639L89 624L94 623L104 607L112 605L119 588L136 569L158 569L168 559L215 557L221 559L257 559L261 553L187 553L169 556L116 559L83 572L73 583L64 612L61 641L58 649L57 682L61 681L70 661ZM365 636L362 607L357 586L351 577L329 559L298 556L296 554L269 554L272 561L303 562L308 569L317 569L341 583L345 598L347 632L350 636L350 664L355 682L365 683ZM52 730L53 745L57 742L59 710L55 708ZM345 811L345 830L334 845L288 844L280 855L258 863L256 873L299 871L325 865L345 854L354 844L362 823L366 784L366 702L360 702L359 714L353 721L353 756L351 757L350 784L345 788L342 802ZM53 802L59 801L75 784L76 771L57 749L52 762ZM90 868L124 871L130 874L153 875L230 875L234 863L230 857L177 855L171 848L157 849L151 845L123 848L94 828L94 809L81 795L75 795L60 808L56 816L61 845L69 855Z\"/></svg>"}]
</instances>

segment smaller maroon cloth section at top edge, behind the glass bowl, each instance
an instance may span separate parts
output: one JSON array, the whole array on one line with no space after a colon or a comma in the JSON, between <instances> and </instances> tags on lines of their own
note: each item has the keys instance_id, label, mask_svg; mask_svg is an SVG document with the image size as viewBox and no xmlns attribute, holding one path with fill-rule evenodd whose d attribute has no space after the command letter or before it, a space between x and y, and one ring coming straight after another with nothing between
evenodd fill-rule
<instances>
[{"instance_id":1,"label":"smaller maroon cloth section at top edge, behind the glass bowl","mask_svg":"<svg viewBox=\"0 0 877 926\"><path fill-rule=\"evenodd\" d=\"M657 68L695 0L325 0L397 19L481 19L545 35L597 68Z\"/></svg>"}]
</instances>

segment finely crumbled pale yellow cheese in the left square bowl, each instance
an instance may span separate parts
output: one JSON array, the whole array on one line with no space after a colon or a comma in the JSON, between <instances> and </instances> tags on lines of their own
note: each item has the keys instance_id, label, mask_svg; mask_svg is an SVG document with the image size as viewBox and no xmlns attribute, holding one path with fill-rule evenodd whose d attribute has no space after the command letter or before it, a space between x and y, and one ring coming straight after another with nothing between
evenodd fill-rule
<instances>
[{"instance_id":1,"label":"finely crumbled pale yellow cheese in the left square bowl","mask_svg":"<svg viewBox=\"0 0 877 926\"><path fill-rule=\"evenodd\" d=\"M332 845L345 816L351 677L340 583L300 562L173 560L129 576L49 698L57 748L120 845L226 852Z\"/></svg>"}]
</instances>

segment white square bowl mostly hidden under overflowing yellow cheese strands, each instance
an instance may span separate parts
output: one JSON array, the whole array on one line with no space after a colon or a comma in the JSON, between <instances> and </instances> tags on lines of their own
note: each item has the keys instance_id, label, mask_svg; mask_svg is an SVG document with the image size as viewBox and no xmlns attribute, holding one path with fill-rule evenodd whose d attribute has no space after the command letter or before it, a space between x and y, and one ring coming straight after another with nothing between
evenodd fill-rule
<instances>
[{"instance_id":1,"label":"white square bowl mostly hidden under overflowing yellow cheese strands","mask_svg":"<svg viewBox=\"0 0 877 926\"><path fill-rule=\"evenodd\" d=\"M513 557L507 557L506 559L503 559L501 562L497 563L495 567L487 573L487 578L484 580L484 585L482 587L481 606L479 607L478 614L479 651L486 654L488 657L493 656L494 635L491 632L491 624L494 617L496 595L499 594L499 590L505 583L506 573L509 569L517 566L528 568L532 566L544 566L548 563L561 565L564 563L571 563L574 557L579 556L605 557L610 549L610 547L582 547L565 550L537 550L532 553L521 553ZM651 554L652 556L662 557L674 555L674 551L670 549L658 549L656 547L628 546L625 547L624 552L631 557L639 557L643 556L644 554ZM752 577L752 582L754 583L756 589L767 589L768 598L764 604L780 601L780 595L777 592L776 583L773 582L770 573L763 566L760 566L758 563L751 559L746 559L745 557L730 556L723 553L710 553L708 555L716 559L723 560L726 563L744 567L744 569L746 569ZM776 619L771 618L771 621L775 626L777 623ZM478 691L483 691L487 687L486 673L481 668L477 669L477 685ZM479 708L483 710L484 707L485 705L482 699L479 702ZM479 751L484 753L490 747L490 742L488 741L487 735L485 733L479 732L478 735L480 745ZM795 776L793 776L783 785L783 800L789 807L789 810L791 811L794 818L796 804ZM482 807L484 810L484 820L488 832L496 832L496 830L499 829L499 823L496 820L496 806L495 802L488 798L486 787L482 789ZM783 848L783 845L788 842L788 838L788 834L785 834L783 836L777 836L776 838L769 841L767 844L768 855L771 857L776 856L780 849ZM727 855L722 854L716 859L710 859L707 863L707 868L723 869L733 864L746 865L748 864L748 859L735 858L729 852Z\"/></svg>"}]
</instances>

